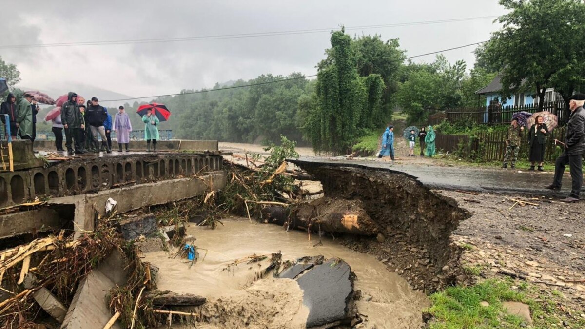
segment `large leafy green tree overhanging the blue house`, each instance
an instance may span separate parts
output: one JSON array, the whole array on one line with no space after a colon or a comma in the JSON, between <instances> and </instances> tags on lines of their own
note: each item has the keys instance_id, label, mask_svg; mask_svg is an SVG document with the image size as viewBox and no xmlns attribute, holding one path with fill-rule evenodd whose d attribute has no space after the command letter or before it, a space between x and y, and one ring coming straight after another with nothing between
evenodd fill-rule
<instances>
[{"instance_id":1,"label":"large leafy green tree overhanging the blue house","mask_svg":"<svg viewBox=\"0 0 585 329\"><path fill-rule=\"evenodd\" d=\"M568 98L582 83L585 4L580 0L500 0L508 13L498 22L482 60L499 66L502 93L535 87L542 109L545 90L562 85ZM569 81L567 83L567 81Z\"/></svg>"}]
</instances>

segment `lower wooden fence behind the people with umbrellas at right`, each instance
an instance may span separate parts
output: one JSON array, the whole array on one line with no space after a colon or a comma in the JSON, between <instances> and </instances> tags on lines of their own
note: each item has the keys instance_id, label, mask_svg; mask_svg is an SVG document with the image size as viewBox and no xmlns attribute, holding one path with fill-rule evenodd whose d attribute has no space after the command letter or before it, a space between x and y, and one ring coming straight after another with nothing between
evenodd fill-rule
<instances>
[{"instance_id":1,"label":"lower wooden fence behind the people with umbrellas at right","mask_svg":"<svg viewBox=\"0 0 585 329\"><path fill-rule=\"evenodd\" d=\"M554 129L546 139L545 161L554 161L558 155L555 139L565 139L565 127ZM506 131L479 132L475 136L443 135L436 133L437 149L474 160L501 161L506 150ZM528 160L528 130L522 132L522 143L518 159Z\"/></svg>"}]
</instances>

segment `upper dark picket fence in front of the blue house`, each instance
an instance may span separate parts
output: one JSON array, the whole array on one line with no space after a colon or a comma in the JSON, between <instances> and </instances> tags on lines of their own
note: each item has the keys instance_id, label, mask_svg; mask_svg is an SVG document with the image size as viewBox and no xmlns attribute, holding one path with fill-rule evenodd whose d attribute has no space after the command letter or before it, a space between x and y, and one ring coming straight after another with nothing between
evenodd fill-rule
<instances>
[{"instance_id":1,"label":"upper dark picket fence in front of the blue house","mask_svg":"<svg viewBox=\"0 0 585 329\"><path fill-rule=\"evenodd\" d=\"M466 121L475 124L505 124L512 121L516 112L539 112L538 105L522 105L519 107L490 105L480 108L450 108L445 110L446 119L450 122ZM543 104L542 111L548 111L559 118L559 125L569 121L570 111L565 102L550 102Z\"/></svg>"}]
</instances>

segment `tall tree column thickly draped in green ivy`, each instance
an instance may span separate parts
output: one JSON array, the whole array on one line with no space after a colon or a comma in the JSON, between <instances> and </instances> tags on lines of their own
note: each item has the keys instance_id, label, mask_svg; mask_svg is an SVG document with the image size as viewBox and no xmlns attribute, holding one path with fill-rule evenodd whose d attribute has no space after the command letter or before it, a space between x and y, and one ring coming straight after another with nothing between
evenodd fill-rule
<instances>
[{"instance_id":1,"label":"tall tree column thickly draped in green ivy","mask_svg":"<svg viewBox=\"0 0 585 329\"><path fill-rule=\"evenodd\" d=\"M305 131L315 150L345 153L373 120L366 116L379 117L385 86L378 74L359 76L352 39L343 29L331 34L326 54L318 66L316 106Z\"/></svg>"}]
</instances>

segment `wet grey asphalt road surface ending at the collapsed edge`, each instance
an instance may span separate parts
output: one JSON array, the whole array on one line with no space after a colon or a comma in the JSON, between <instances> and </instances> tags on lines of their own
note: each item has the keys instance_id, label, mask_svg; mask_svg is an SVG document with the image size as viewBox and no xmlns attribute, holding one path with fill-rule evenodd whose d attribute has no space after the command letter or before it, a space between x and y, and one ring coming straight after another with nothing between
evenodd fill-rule
<instances>
[{"instance_id":1,"label":"wet grey asphalt road surface ending at the collapsed edge","mask_svg":"<svg viewBox=\"0 0 585 329\"><path fill-rule=\"evenodd\" d=\"M295 160L291 160L295 162ZM324 163L336 166L383 168L417 177L432 189L466 190L477 192L528 193L541 196L569 194L571 179L565 170L563 189L555 193L545 189L552 183L553 172L528 172L526 169L475 168L456 166L412 165L385 160L338 160L325 157L301 157L299 162Z\"/></svg>"}]
</instances>

